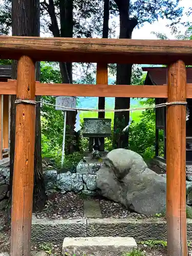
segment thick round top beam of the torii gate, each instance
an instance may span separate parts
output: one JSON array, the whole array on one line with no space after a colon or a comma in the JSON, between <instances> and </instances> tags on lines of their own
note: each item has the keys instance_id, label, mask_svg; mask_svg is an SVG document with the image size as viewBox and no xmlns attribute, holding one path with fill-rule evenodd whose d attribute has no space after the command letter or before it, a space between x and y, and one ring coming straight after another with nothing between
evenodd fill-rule
<instances>
[{"instance_id":1,"label":"thick round top beam of the torii gate","mask_svg":"<svg viewBox=\"0 0 192 256\"><path fill-rule=\"evenodd\" d=\"M47 61L169 64L182 59L191 65L191 48L190 40L0 37L2 59L25 54Z\"/></svg>"}]
</instances>

